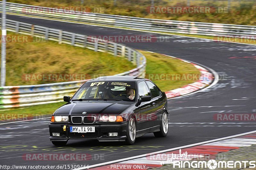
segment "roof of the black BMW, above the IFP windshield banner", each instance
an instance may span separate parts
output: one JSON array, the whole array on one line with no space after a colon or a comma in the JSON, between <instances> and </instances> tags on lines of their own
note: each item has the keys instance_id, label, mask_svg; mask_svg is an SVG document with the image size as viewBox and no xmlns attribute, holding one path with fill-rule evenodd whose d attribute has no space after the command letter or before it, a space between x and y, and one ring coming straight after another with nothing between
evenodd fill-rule
<instances>
[{"instance_id":1,"label":"roof of the black BMW, above the IFP windshield banner","mask_svg":"<svg viewBox=\"0 0 256 170\"><path fill-rule=\"evenodd\" d=\"M128 75L112 75L112 76L101 76L96 79L90 80L92 81L138 81L142 80L143 78L138 78L137 76L128 76ZM144 79L143 79L144 80Z\"/></svg>"}]
</instances>

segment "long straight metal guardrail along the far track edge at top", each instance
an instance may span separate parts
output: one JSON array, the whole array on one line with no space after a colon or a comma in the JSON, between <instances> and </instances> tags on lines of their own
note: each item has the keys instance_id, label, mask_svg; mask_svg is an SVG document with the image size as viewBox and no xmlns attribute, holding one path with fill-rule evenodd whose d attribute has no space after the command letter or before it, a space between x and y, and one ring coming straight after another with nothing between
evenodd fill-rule
<instances>
[{"instance_id":1,"label":"long straight metal guardrail along the far track edge at top","mask_svg":"<svg viewBox=\"0 0 256 170\"><path fill-rule=\"evenodd\" d=\"M7 13L34 17L112 25L138 30L211 36L255 36L256 26L186 22L68 11L25 4L7 3ZM2 8L2 4L0 5Z\"/></svg>"}]
</instances>

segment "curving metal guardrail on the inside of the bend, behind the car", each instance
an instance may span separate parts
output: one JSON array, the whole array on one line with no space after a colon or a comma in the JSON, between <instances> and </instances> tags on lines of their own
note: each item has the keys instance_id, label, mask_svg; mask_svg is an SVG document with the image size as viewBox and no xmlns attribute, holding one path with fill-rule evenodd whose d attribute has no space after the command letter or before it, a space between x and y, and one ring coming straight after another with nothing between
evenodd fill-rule
<instances>
[{"instance_id":1,"label":"curving metal guardrail on the inside of the bend, behind the car","mask_svg":"<svg viewBox=\"0 0 256 170\"><path fill-rule=\"evenodd\" d=\"M10 32L31 35L44 38L46 40L57 41L60 44L65 43L72 46L88 48L95 52L107 52L114 56L124 57L136 64L137 67L116 75L145 76L145 56L133 48L127 47L123 44L9 19L6 21L6 28ZM72 96L86 81L88 80L0 87L0 109L55 103L60 101L63 96Z\"/></svg>"}]
</instances>

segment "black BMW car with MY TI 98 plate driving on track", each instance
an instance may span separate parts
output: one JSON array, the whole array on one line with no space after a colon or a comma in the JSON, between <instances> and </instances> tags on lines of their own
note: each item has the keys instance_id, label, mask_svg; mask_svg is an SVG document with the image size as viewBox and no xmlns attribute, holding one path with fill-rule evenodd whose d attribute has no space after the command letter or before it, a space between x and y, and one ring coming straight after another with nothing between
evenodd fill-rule
<instances>
[{"instance_id":1,"label":"black BMW car with MY TI 98 plate driving on track","mask_svg":"<svg viewBox=\"0 0 256 170\"><path fill-rule=\"evenodd\" d=\"M125 141L168 132L166 95L156 84L136 76L104 76L85 82L65 105L57 109L49 124L53 145L69 139Z\"/></svg>"}]
</instances>

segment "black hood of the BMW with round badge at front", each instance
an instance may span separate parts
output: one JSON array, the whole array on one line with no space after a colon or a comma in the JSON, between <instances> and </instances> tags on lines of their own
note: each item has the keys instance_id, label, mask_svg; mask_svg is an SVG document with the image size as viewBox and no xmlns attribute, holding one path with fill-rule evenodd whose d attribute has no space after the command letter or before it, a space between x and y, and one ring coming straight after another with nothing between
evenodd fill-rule
<instances>
[{"instance_id":1,"label":"black hood of the BMW with round badge at front","mask_svg":"<svg viewBox=\"0 0 256 170\"><path fill-rule=\"evenodd\" d=\"M134 102L125 101L82 101L82 102L69 102L54 113L55 116L65 116L65 115L79 115L88 116L93 114L118 114L122 112L125 108L134 104ZM82 114L86 112L86 114Z\"/></svg>"}]
</instances>

